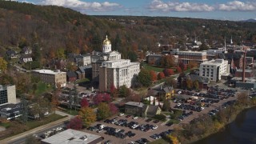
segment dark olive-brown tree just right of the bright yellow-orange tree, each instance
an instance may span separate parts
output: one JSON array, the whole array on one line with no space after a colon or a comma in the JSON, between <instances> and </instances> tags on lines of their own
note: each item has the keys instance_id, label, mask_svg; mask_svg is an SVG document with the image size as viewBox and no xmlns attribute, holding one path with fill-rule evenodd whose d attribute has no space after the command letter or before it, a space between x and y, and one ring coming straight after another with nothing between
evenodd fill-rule
<instances>
[{"instance_id":1,"label":"dark olive-brown tree just right of the bright yellow-orange tree","mask_svg":"<svg viewBox=\"0 0 256 144\"><path fill-rule=\"evenodd\" d=\"M110 107L105 102L99 103L97 110L97 119L102 120L108 117L110 117Z\"/></svg>"}]
</instances>

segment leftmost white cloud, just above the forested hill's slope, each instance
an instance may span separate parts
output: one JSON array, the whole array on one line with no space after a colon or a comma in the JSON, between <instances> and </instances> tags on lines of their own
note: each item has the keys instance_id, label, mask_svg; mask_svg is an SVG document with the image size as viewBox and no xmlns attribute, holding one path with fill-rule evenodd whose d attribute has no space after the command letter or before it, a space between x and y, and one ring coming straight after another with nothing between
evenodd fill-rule
<instances>
[{"instance_id":1,"label":"leftmost white cloud, just above the forested hill's slope","mask_svg":"<svg viewBox=\"0 0 256 144\"><path fill-rule=\"evenodd\" d=\"M111 11L122 7L114 2L82 2L80 0L43 0L40 5L64 6L73 10L84 11Z\"/></svg>"}]
</instances>

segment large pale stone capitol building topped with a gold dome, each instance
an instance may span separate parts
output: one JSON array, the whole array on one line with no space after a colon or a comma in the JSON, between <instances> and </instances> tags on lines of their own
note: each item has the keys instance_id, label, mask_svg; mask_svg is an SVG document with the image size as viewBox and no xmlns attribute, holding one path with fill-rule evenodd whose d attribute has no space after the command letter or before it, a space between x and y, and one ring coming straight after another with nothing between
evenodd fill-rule
<instances>
[{"instance_id":1,"label":"large pale stone capitol building topped with a gold dome","mask_svg":"<svg viewBox=\"0 0 256 144\"><path fill-rule=\"evenodd\" d=\"M103 41L102 52L94 51L91 56L92 80L98 82L98 89L110 91L110 86L116 88L131 86L132 78L140 71L139 62L130 62L130 59L121 59L118 51L111 50L111 42L107 38Z\"/></svg>"}]
</instances>

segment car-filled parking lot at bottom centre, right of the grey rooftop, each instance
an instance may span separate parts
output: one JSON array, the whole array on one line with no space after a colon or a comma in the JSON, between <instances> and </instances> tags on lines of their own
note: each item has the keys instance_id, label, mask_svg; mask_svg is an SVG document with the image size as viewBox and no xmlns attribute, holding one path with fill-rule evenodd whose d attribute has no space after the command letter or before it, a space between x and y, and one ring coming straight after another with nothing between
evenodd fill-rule
<instances>
[{"instance_id":1,"label":"car-filled parking lot at bottom centre, right of the grey rooftop","mask_svg":"<svg viewBox=\"0 0 256 144\"><path fill-rule=\"evenodd\" d=\"M111 119L114 119L114 118L110 118L110 120ZM106 142L107 140L110 140L112 143L129 143L129 142L135 142L140 138L146 138L149 141L154 141L154 138L150 138L150 136L152 136L154 134L160 134L160 133L162 133L163 131L166 131L166 130L172 130L173 129L173 126L166 126L165 123L163 123L163 122L154 123L154 120L151 120L150 122L146 122L146 120L148 118L133 119L132 116L129 117L129 118L126 118L126 115L123 115L123 116L118 116L115 119L116 119L117 122L121 119L127 120L126 123L135 122L136 124L138 123L138 126L137 126L137 128L132 129L132 128L130 128L132 126L130 126L130 127L129 126L124 126L124 125L118 126L118 124L112 124L111 122L110 123L94 122L94 124L92 124L91 126L96 126L97 127L98 124L102 124L102 125L107 126L108 129L113 128L113 130L111 130L111 131L114 131L114 130L120 130L121 131L122 130L122 131L124 131L124 132L122 132L122 134L127 134L127 132L130 131L130 133L135 134L135 135L132 136L131 138L129 136L126 136L126 138L118 138L117 136L114 136L115 135L114 133L113 133L114 135L108 134L106 129L104 129L100 133L97 132L98 130L84 130L84 131L86 131L88 133L101 135L102 137L105 138L104 142ZM142 125L144 127L138 129ZM148 131L143 131L143 130L146 130L147 126L151 126L150 129ZM153 129L155 129L155 130L153 130Z\"/></svg>"}]
</instances>

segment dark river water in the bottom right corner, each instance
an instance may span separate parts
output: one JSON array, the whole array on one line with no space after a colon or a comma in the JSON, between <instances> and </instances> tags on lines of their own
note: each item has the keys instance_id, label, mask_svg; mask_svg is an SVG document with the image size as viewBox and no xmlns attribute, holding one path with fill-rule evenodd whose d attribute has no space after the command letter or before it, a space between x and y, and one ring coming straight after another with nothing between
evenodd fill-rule
<instances>
[{"instance_id":1,"label":"dark river water in the bottom right corner","mask_svg":"<svg viewBox=\"0 0 256 144\"><path fill-rule=\"evenodd\" d=\"M243 110L226 129L194 144L256 144L256 107Z\"/></svg>"}]
</instances>

